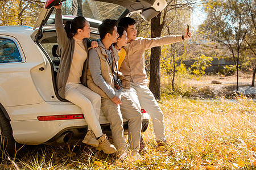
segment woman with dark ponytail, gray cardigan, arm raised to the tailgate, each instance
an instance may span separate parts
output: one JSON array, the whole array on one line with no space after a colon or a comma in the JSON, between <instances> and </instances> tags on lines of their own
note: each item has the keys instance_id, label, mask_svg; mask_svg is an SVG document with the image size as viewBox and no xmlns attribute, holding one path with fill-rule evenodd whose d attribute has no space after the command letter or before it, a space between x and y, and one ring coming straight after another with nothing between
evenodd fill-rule
<instances>
[{"instance_id":1,"label":"woman with dark ponytail, gray cardigan, arm raised to the tailgate","mask_svg":"<svg viewBox=\"0 0 256 170\"><path fill-rule=\"evenodd\" d=\"M82 142L112 154L115 147L102 134L100 122L101 96L86 87L86 70L88 65L88 46L97 47L97 41L90 41L90 23L77 16L65 23L61 16L61 2L56 8L55 28L60 49L60 66L57 73L57 90L59 95L81 108L88 132Z\"/></svg>"}]
</instances>

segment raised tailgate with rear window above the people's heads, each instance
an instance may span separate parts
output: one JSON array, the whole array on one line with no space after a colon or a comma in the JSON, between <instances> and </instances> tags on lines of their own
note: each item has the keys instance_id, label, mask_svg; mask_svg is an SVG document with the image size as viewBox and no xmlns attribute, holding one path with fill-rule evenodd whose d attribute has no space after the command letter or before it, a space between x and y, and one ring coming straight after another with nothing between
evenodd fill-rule
<instances>
[{"instance_id":1,"label":"raised tailgate with rear window above the people's heads","mask_svg":"<svg viewBox=\"0 0 256 170\"><path fill-rule=\"evenodd\" d=\"M54 8L53 6L61 0L47 0L36 19L33 29L36 31L31 35L35 41L42 37L43 25L52 23L48 21ZM85 18L102 21L104 19L116 19L138 12L145 20L150 20L158 15L165 7L165 0L64 0L63 15L84 16Z\"/></svg>"}]
</instances>

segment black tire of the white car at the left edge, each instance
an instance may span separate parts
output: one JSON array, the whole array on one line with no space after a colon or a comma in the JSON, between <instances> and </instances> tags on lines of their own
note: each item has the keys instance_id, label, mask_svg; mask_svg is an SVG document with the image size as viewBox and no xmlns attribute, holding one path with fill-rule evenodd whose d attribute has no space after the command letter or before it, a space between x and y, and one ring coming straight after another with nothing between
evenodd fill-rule
<instances>
[{"instance_id":1,"label":"black tire of the white car at the left edge","mask_svg":"<svg viewBox=\"0 0 256 170\"><path fill-rule=\"evenodd\" d=\"M5 114L0 109L0 155L10 156L13 158L15 152L15 140L13 138L13 129L11 129L10 121L7 120Z\"/></svg>"}]
</instances>

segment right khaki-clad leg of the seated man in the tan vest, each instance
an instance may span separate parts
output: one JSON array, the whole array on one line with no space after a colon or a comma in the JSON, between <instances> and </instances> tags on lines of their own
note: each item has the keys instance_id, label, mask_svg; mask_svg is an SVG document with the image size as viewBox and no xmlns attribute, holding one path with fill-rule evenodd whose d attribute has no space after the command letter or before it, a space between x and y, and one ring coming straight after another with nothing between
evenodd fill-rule
<instances>
[{"instance_id":1,"label":"right khaki-clad leg of the seated man in the tan vest","mask_svg":"<svg viewBox=\"0 0 256 170\"><path fill-rule=\"evenodd\" d=\"M142 114L125 90L121 90L121 112L128 120L129 144L133 152L138 153L141 140Z\"/></svg>"}]
</instances>

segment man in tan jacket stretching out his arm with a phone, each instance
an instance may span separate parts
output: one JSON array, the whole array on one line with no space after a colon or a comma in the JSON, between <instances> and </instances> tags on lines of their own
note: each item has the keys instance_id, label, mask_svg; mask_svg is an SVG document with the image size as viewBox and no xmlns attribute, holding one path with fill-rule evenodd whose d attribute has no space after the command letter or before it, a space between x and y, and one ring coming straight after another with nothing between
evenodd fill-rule
<instances>
[{"instance_id":1,"label":"man in tan jacket stretching out his arm with a phone","mask_svg":"<svg viewBox=\"0 0 256 170\"><path fill-rule=\"evenodd\" d=\"M151 116L156 142L158 146L166 145L166 137L164 134L164 118L154 95L147 87L148 79L144 65L144 50L154 46L172 44L183 40L188 40L191 37L191 32L188 30L184 35L164 36L155 39L147 39L137 36L135 20L129 17L121 18L118 26L124 27L127 32L128 43L126 48L126 57L121 64L120 70L123 75L131 82L130 90L127 93L137 105L139 110L146 109Z\"/></svg>"}]
</instances>

